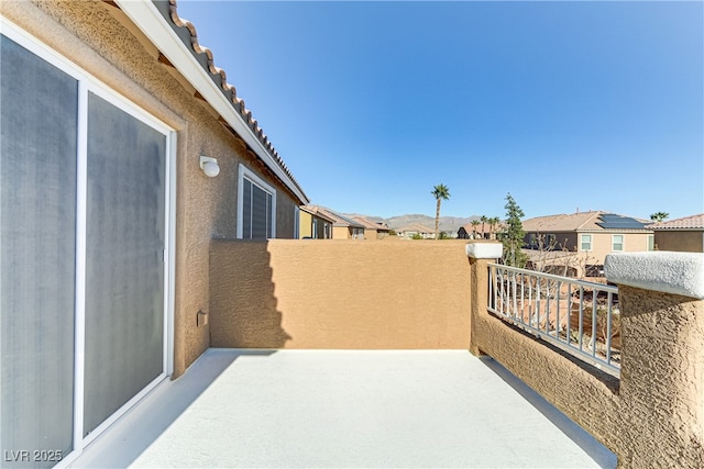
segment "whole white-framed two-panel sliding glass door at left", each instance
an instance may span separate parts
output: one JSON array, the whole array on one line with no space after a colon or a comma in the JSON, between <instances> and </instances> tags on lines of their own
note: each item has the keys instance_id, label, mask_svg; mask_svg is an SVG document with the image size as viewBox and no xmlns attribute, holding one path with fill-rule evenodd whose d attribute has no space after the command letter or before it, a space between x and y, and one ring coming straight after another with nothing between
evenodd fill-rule
<instances>
[{"instance_id":1,"label":"whole white-framed two-panel sliding glass door at left","mask_svg":"<svg viewBox=\"0 0 704 469\"><path fill-rule=\"evenodd\" d=\"M3 27L1 466L51 467L167 373L172 131L21 42Z\"/></svg>"}]
</instances>

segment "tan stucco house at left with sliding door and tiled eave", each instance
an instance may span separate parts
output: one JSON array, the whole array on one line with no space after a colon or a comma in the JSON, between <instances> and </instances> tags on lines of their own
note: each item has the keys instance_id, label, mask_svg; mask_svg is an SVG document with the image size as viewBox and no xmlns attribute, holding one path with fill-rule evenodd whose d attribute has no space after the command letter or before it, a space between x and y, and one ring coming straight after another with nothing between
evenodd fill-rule
<instances>
[{"instance_id":1,"label":"tan stucco house at left with sliding door and tiled eave","mask_svg":"<svg viewBox=\"0 0 704 469\"><path fill-rule=\"evenodd\" d=\"M0 14L1 449L69 464L209 347L211 241L308 198L175 2Z\"/></svg>"}]
</instances>

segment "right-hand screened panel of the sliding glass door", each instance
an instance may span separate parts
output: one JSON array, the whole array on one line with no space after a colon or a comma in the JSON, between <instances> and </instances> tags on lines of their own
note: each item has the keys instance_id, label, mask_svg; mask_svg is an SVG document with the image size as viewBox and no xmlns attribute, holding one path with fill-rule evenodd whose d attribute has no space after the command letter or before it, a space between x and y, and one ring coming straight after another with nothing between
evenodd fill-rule
<instances>
[{"instance_id":1,"label":"right-hand screened panel of the sliding glass door","mask_svg":"<svg viewBox=\"0 0 704 469\"><path fill-rule=\"evenodd\" d=\"M164 371L165 154L88 94L84 436Z\"/></svg>"}]
</instances>

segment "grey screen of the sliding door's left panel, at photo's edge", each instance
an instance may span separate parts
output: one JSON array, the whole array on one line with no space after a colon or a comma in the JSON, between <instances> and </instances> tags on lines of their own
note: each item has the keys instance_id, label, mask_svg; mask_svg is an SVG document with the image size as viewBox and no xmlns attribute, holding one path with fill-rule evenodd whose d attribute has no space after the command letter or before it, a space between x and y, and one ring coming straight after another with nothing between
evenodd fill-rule
<instances>
[{"instance_id":1,"label":"grey screen of the sliding door's left panel, at photo's edge","mask_svg":"<svg viewBox=\"0 0 704 469\"><path fill-rule=\"evenodd\" d=\"M2 454L67 455L74 426L78 82L6 36L0 69Z\"/></svg>"}]
</instances>

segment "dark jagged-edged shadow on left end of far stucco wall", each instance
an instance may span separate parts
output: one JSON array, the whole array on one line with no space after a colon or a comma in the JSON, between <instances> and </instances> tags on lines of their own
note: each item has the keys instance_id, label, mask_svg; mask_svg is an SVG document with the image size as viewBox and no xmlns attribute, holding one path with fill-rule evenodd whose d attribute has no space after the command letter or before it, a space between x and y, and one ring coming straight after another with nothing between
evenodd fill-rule
<instances>
[{"instance_id":1,"label":"dark jagged-edged shadow on left end of far stucco wall","mask_svg":"<svg viewBox=\"0 0 704 469\"><path fill-rule=\"evenodd\" d=\"M266 241L212 242L211 347L284 348L292 339L282 327L267 245Z\"/></svg>"}]
</instances>

